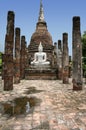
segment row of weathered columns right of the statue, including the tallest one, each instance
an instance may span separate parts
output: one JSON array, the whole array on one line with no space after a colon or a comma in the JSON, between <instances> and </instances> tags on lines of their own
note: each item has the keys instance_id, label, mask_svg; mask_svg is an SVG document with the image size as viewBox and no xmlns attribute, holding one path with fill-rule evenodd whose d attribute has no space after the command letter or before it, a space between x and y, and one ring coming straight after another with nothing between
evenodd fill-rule
<instances>
[{"instance_id":1,"label":"row of weathered columns right of the statue, including the tallest one","mask_svg":"<svg viewBox=\"0 0 86 130\"><path fill-rule=\"evenodd\" d=\"M64 84L69 83L69 54L68 54L68 34L63 33L63 45L58 40L57 49L58 60L58 79L63 80ZM82 90L82 43L80 31L80 17L73 17L72 29L72 81L73 90Z\"/></svg>"}]
</instances>

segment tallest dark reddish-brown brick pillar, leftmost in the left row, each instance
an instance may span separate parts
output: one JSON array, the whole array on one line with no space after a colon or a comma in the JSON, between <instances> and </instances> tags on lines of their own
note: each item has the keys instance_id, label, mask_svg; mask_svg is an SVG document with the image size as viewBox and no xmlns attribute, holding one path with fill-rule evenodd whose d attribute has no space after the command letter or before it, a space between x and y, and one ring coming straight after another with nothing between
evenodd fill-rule
<instances>
[{"instance_id":1,"label":"tallest dark reddish-brown brick pillar, leftmost in the left row","mask_svg":"<svg viewBox=\"0 0 86 130\"><path fill-rule=\"evenodd\" d=\"M5 36L4 61L4 90L13 90L13 46L14 46L14 12L7 16L7 32Z\"/></svg>"}]
</instances>

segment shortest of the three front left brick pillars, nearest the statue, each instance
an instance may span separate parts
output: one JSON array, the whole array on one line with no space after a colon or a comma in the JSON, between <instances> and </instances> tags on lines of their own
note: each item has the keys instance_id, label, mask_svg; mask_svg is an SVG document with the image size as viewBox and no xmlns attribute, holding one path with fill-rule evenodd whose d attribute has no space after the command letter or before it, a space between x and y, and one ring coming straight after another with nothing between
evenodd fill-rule
<instances>
[{"instance_id":1,"label":"shortest of the three front left brick pillars, nearest the statue","mask_svg":"<svg viewBox=\"0 0 86 130\"><path fill-rule=\"evenodd\" d=\"M26 41L25 36L21 36L21 51L20 51L20 77L25 78L25 55L26 55Z\"/></svg>"}]
</instances>

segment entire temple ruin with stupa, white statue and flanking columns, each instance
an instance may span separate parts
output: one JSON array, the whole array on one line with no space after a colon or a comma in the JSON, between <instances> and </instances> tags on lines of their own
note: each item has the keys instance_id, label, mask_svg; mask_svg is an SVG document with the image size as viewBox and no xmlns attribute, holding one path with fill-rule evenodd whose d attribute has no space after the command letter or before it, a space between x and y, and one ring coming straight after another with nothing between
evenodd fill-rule
<instances>
[{"instance_id":1,"label":"entire temple ruin with stupa, white statue and flanking columns","mask_svg":"<svg viewBox=\"0 0 86 130\"><path fill-rule=\"evenodd\" d=\"M68 33L53 44L44 18L42 0L36 30L26 44L21 29L15 27L15 15L8 11L3 55L4 90L12 90L13 83L26 80L62 80L69 83ZM82 47L80 17L73 18L73 90L82 89Z\"/></svg>"}]
</instances>

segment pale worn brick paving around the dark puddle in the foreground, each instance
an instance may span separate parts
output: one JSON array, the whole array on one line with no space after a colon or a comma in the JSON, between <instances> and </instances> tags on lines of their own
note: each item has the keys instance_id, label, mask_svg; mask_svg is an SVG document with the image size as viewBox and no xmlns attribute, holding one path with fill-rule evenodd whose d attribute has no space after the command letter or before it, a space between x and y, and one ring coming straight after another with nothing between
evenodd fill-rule
<instances>
[{"instance_id":1,"label":"pale worn brick paving around the dark puddle in the foreground","mask_svg":"<svg viewBox=\"0 0 86 130\"><path fill-rule=\"evenodd\" d=\"M24 96L41 102L24 116L8 118L0 113L0 130L86 130L86 85L78 92L72 91L71 79L67 85L58 80L22 80L10 92L4 92L2 86L1 103ZM36 92L27 94L33 87Z\"/></svg>"}]
</instances>

